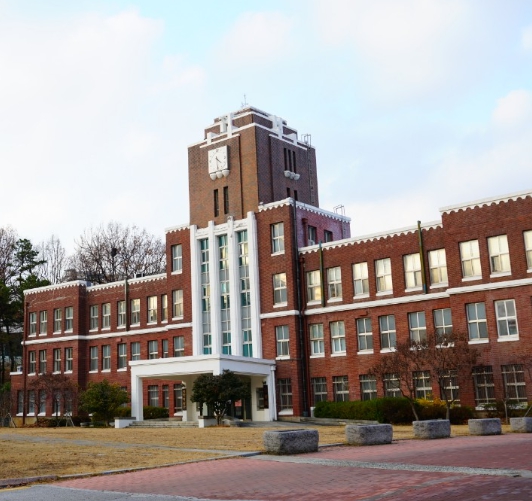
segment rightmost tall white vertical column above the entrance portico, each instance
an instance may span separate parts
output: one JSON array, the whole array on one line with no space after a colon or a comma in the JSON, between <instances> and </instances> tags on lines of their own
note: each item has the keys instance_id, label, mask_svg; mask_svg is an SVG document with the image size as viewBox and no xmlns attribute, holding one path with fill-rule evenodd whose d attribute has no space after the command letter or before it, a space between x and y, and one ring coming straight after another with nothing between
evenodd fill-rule
<instances>
[{"instance_id":1,"label":"rightmost tall white vertical column above the entrance portico","mask_svg":"<svg viewBox=\"0 0 532 501\"><path fill-rule=\"evenodd\" d=\"M253 339L253 357L262 358L262 332L260 326L260 277L259 249L257 243L257 220L253 212L248 212L248 252L249 287L251 299L251 335Z\"/></svg>"}]
</instances>

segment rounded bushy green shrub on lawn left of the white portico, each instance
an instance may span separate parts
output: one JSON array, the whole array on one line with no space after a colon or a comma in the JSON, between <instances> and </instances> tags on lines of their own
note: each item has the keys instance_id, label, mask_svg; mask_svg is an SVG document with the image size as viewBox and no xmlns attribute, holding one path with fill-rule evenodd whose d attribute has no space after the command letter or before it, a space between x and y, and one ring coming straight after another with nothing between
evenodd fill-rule
<instances>
[{"instance_id":1,"label":"rounded bushy green shrub on lawn left of the white portico","mask_svg":"<svg viewBox=\"0 0 532 501\"><path fill-rule=\"evenodd\" d=\"M80 407L88 413L101 417L108 426L114 418L116 410L129 402L127 391L117 383L109 383L104 379L101 383L89 383L80 395Z\"/></svg>"}]
</instances>

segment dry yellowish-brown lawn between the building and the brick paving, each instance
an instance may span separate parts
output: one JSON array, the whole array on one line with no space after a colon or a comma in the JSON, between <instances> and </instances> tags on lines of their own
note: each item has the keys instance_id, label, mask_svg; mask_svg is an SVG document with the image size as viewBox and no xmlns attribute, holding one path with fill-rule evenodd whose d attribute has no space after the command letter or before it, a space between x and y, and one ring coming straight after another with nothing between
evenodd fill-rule
<instances>
[{"instance_id":1,"label":"dry yellowish-brown lawn between the building and the brick paving","mask_svg":"<svg viewBox=\"0 0 532 501\"><path fill-rule=\"evenodd\" d=\"M261 451L267 429L0 428L0 479L97 474ZM344 426L316 429L320 445L345 443ZM452 426L451 434L467 435L468 427ZM394 440L412 438L411 426L394 426Z\"/></svg>"}]
</instances>

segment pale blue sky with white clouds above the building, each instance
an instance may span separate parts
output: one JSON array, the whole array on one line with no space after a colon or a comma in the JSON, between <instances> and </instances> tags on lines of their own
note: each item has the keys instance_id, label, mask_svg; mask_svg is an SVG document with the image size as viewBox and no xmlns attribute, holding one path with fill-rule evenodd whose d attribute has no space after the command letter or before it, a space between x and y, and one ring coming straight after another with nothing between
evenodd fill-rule
<instances>
[{"instance_id":1,"label":"pale blue sky with white clouds above the building","mask_svg":"<svg viewBox=\"0 0 532 501\"><path fill-rule=\"evenodd\" d=\"M243 103L311 134L353 236L532 190L532 2L0 0L0 227L164 238Z\"/></svg>"}]
</instances>

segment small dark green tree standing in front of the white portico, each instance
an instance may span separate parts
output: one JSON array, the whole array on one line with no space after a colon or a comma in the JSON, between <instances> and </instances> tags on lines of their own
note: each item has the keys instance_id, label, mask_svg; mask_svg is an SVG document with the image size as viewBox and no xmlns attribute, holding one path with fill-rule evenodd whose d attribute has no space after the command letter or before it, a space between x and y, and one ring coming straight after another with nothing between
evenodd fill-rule
<instances>
[{"instance_id":1,"label":"small dark green tree standing in front of the white portico","mask_svg":"<svg viewBox=\"0 0 532 501\"><path fill-rule=\"evenodd\" d=\"M234 372L224 370L222 374L201 374L192 386L192 402L200 407L207 404L213 409L216 423L220 425L231 401L248 398L249 385Z\"/></svg>"}]
</instances>

